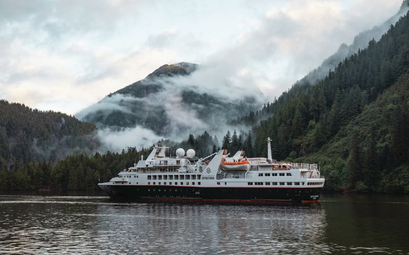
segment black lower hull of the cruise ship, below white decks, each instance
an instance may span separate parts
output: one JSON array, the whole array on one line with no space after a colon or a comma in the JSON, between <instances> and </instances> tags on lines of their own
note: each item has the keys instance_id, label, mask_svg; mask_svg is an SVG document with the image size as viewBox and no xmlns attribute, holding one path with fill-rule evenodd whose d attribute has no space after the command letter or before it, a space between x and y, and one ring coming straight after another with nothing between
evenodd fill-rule
<instances>
[{"instance_id":1,"label":"black lower hull of the cruise ship, below white decks","mask_svg":"<svg viewBox=\"0 0 409 255\"><path fill-rule=\"evenodd\" d=\"M101 185L110 197L196 202L317 202L321 188Z\"/></svg>"}]
</instances>

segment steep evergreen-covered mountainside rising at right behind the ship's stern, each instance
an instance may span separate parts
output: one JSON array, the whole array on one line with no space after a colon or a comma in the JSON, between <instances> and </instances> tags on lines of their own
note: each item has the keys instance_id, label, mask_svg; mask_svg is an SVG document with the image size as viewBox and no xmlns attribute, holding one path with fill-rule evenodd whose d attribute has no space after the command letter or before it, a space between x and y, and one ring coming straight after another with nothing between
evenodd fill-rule
<instances>
[{"instance_id":1,"label":"steep evergreen-covered mountainside rising at right behind the ship's stern","mask_svg":"<svg viewBox=\"0 0 409 255\"><path fill-rule=\"evenodd\" d=\"M328 189L409 192L409 17L313 86L294 86L264 110L254 150L317 161Z\"/></svg>"}]
</instances>

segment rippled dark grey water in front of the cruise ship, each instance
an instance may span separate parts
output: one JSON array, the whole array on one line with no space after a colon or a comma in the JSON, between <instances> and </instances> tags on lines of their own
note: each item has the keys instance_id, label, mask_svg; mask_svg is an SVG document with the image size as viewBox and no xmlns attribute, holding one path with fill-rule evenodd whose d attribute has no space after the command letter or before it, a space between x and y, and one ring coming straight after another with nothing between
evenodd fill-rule
<instances>
[{"instance_id":1,"label":"rippled dark grey water in front of the cruise ship","mask_svg":"<svg viewBox=\"0 0 409 255\"><path fill-rule=\"evenodd\" d=\"M407 254L408 217L408 196L244 206L0 195L0 253Z\"/></svg>"}]
</instances>

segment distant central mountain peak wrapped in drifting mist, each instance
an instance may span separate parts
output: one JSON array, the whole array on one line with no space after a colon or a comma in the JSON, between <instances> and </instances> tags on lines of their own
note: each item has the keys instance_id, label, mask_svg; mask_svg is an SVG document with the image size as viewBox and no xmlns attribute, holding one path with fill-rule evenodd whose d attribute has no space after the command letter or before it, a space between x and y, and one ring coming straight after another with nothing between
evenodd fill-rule
<instances>
[{"instance_id":1,"label":"distant central mountain peak wrapped in drifting mist","mask_svg":"<svg viewBox=\"0 0 409 255\"><path fill-rule=\"evenodd\" d=\"M169 136L185 130L214 131L232 116L260 107L252 96L228 100L214 91L198 89L195 84L179 85L172 80L190 75L198 68L185 62L163 65L145 79L109 94L76 116L98 128L120 130L139 125Z\"/></svg>"}]
</instances>

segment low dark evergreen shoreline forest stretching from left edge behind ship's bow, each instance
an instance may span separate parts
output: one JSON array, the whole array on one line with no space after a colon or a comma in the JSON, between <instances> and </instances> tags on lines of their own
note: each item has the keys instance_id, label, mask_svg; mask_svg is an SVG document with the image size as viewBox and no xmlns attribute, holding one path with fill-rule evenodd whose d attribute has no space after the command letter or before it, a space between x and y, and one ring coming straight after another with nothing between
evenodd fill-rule
<instances>
[{"instance_id":1,"label":"low dark evergreen shoreline forest stretching from left edge behind ship's bow","mask_svg":"<svg viewBox=\"0 0 409 255\"><path fill-rule=\"evenodd\" d=\"M179 147L194 148L197 157L206 157L216 151L217 137L212 138L207 132L196 138L189 135L181 142L161 140L158 143L170 146L167 154L174 155ZM153 146L153 145L152 145ZM77 154L58 160L56 164L50 161L39 163L29 162L25 166L8 168L0 165L0 190L94 190L99 189L99 182L109 181L122 169L132 166L144 156L146 159L152 150L135 147L123 149L121 153L107 151L93 156ZM218 148L220 149L220 148ZM213 151L212 151L213 150Z\"/></svg>"}]
</instances>

